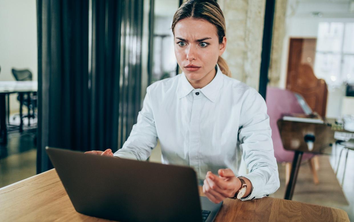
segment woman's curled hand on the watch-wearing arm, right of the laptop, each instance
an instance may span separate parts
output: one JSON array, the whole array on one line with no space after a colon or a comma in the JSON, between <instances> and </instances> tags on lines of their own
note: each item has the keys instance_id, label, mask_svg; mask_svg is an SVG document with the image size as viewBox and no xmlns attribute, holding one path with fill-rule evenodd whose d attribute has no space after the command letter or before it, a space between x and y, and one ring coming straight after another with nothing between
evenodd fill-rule
<instances>
[{"instance_id":1,"label":"woman's curled hand on the watch-wearing arm, right of the laptop","mask_svg":"<svg viewBox=\"0 0 354 222\"><path fill-rule=\"evenodd\" d=\"M231 169L220 169L218 174L219 176L208 171L203 185L206 197L216 204L225 198L234 197L242 185Z\"/></svg>"}]
</instances>

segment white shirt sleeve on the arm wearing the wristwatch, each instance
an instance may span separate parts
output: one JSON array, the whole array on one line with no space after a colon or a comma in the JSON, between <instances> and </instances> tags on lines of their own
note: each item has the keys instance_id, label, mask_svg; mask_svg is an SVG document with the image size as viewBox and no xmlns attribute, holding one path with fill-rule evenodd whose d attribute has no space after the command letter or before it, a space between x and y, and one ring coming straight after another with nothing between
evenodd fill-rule
<instances>
[{"instance_id":1,"label":"white shirt sleeve on the arm wearing the wristwatch","mask_svg":"<svg viewBox=\"0 0 354 222\"><path fill-rule=\"evenodd\" d=\"M241 108L239 140L242 158L250 172L240 176L249 179L253 189L242 200L262 198L274 193L280 186L267 106L263 97L252 91Z\"/></svg>"}]
</instances>

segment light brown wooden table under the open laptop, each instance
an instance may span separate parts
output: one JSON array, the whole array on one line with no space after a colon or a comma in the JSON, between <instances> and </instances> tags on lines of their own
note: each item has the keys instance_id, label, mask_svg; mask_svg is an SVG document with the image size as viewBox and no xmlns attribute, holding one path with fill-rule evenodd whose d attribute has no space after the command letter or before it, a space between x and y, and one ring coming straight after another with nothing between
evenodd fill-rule
<instances>
[{"instance_id":1,"label":"light brown wooden table under the open laptop","mask_svg":"<svg viewBox=\"0 0 354 222\"><path fill-rule=\"evenodd\" d=\"M201 195L204 195L199 189ZM0 189L0 221L107 221L75 211L54 169ZM215 222L349 221L345 211L264 197L226 199Z\"/></svg>"}]
</instances>

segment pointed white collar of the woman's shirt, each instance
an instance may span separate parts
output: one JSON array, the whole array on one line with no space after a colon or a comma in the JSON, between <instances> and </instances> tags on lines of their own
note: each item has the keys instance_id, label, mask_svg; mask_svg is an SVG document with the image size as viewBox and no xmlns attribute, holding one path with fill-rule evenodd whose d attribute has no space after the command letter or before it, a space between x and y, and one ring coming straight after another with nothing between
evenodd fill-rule
<instances>
[{"instance_id":1,"label":"pointed white collar of the woman's shirt","mask_svg":"<svg viewBox=\"0 0 354 222\"><path fill-rule=\"evenodd\" d=\"M222 87L222 72L219 69L219 66L216 65L217 67L217 72L213 80L209 82L208 85L204 86L200 91L206 96L210 101L216 102L216 98L218 96L218 92L220 91L220 88ZM184 96L187 96L191 91L193 91L194 88L192 85L190 85L187 77L185 74L182 72L181 76L179 77L178 80L178 86L177 86L177 96L178 98L182 98Z\"/></svg>"}]
</instances>

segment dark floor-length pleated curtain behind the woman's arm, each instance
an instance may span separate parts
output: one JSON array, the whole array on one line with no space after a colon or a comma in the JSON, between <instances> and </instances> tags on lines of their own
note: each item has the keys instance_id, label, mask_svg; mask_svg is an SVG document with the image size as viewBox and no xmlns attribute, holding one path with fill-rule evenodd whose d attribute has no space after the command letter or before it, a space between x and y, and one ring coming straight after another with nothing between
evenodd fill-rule
<instances>
[{"instance_id":1,"label":"dark floor-length pleated curtain behind the woman's arm","mask_svg":"<svg viewBox=\"0 0 354 222\"><path fill-rule=\"evenodd\" d=\"M142 7L37 0L38 173L52 168L46 146L117 150L129 136L141 106Z\"/></svg>"}]
</instances>

